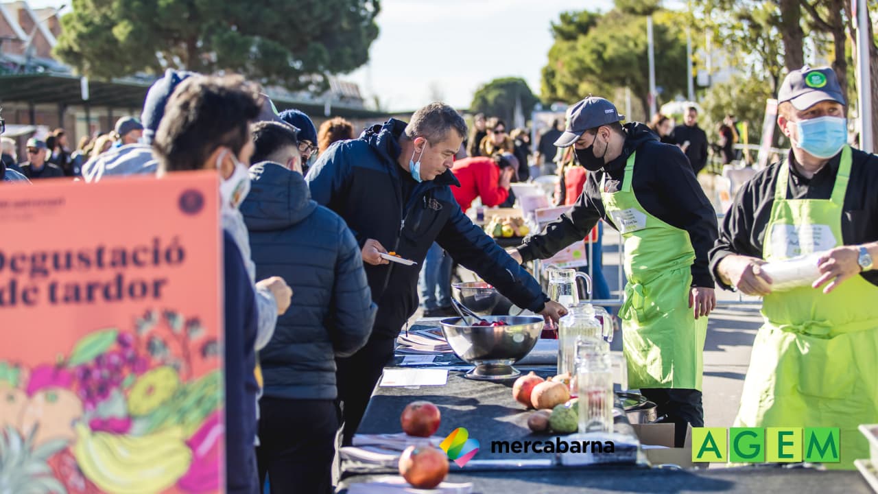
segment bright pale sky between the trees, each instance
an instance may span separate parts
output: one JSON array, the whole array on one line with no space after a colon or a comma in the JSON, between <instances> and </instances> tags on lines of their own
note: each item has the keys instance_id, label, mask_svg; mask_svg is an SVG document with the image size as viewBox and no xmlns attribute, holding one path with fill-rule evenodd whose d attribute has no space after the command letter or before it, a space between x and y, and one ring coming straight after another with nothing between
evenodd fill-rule
<instances>
[{"instance_id":1,"label":"bright pale sky between the trees","mask_svg":"<svg viewBox=\"0 0 878 494\"><path fill-rule=\"evenodd\" d=\"M551 22L563 11L606 11L608 5L608 0L382 0L370 62L341 78L359 84L370 102L378 96L390 111L414 110L435 97L467 108L479 85L505 76L524 78L539 94Z\"/></svg>"}]
</instances>

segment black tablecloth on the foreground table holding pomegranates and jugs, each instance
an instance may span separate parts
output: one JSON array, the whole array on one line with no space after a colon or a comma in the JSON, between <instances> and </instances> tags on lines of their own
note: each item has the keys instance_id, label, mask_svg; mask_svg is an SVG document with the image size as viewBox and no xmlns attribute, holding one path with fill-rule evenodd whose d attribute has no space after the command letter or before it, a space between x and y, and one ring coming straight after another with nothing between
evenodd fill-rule
<instances>
[{"instance_id":1,"label":"black tablecloth on the foreground table holding pomegranates and jugs","mask_svg":"<svg viewBox=\"0 0 878 494\"><path fill-rule=\"evenodd\" d=\"M437 359L439 360L439 359ZM442 359L449 360L449 359ZM399 363L396 361L395 363ZM543 377L554 367L518 367L535 370ZM358 433L402 432L399 415L407 403L428 400L442 411L442 423L435 435L444 437L465 427L479 440L476 459L548 459L550 455L492 453L492 440L547 440L551 436L530 433L527 419L531 410L512 398L513 381L471 381L463 372L450 371L445 386L378 387L366 409ZM378 476L395 474L391 469L362 469L342 462L343 492L350 483L369 482ZM759 465L720 469L648 469L642 466L598 465L587 468L461 470L450 465L446 479L451 483L473 483L473 493L557 494L565 492L846 492L867 494L870 489L856 471L818 471Z\"/></svg>"}]
</instances>

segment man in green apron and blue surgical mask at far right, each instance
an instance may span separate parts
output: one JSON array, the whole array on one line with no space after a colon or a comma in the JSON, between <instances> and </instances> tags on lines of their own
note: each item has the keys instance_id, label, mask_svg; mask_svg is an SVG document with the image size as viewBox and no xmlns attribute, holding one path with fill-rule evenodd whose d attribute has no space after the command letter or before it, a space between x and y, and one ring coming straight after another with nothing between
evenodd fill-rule
<instances>
[{"instance_id":1,"label":"man in green apron and blue surgical mask at far right","mask_svg":"<svg viewBox=\"0 0 878 494\"><path fill-rule=\"evenodd\" d=\"M846 145L835 72L803 67L778 94L786 160L756 174L730 208L711 268L716 280L763 296L735 426L839 427L841 462L868 446L878 422L878 158ZM819 253L819 278L781 290L760 265Z\"/></svg>"}]
</instances>

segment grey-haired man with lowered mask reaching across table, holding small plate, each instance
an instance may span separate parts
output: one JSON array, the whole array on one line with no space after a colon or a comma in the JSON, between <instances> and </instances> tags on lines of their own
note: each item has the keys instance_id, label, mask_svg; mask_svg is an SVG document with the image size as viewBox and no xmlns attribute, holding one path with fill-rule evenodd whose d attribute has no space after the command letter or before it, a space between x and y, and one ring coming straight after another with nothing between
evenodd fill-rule
<instances>
[{"instance_id":1,"label":"grey-haired man with lowered mask reaching across table, holding small plate","mask_svg":"<svg viewBox=\"0 0 878 494\"><path fill-rule=\"evenodd\" d=\"M345 444L392 358L399 330L418 307L420 265L389 264L381 257L388 250L421 263L430 245L439 243L517 306L547 320L566 312L454 200L449 185L459 183L450 169L464 135L464 119L434 103L415 112L408 124L391 119L359 139L335 142L308 173L313 199L340 214L353 231L378 303L369 342L338 362Z\"/></svg>"}]
</instances>

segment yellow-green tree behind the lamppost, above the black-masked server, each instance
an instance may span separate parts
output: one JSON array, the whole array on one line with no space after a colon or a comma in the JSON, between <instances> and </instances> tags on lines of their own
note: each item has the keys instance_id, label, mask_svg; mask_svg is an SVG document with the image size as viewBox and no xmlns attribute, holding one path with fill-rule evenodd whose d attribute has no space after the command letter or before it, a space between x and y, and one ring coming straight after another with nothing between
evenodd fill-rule
<instances>
[{"instance_id":1,"label":"yellow-green tree behind the lamppost, above the black-masked server","mask_svg":"<svg viewBox=\"0 0 878 494\"><path fill-rule=\"evenodd\" d=\"M680 29L684 23L671 11L656 11L653 20L656 85L662 89L659 99L668 101L687 89L686 38ZM619 8L604 15L562 15L552 33L555 43L543 68L543 101L573 102L589 94L612 98L616 90L628 87L644 108L649 107L644 16Z\"/></svg>"}]
</instances>

